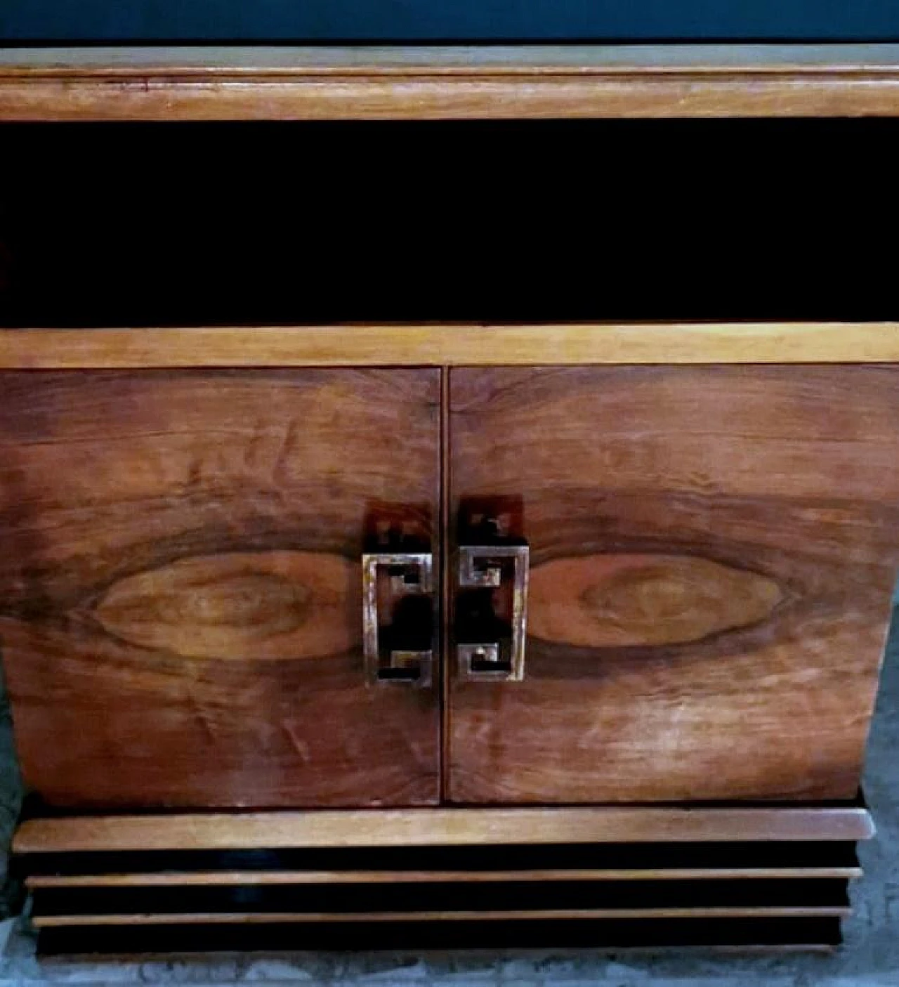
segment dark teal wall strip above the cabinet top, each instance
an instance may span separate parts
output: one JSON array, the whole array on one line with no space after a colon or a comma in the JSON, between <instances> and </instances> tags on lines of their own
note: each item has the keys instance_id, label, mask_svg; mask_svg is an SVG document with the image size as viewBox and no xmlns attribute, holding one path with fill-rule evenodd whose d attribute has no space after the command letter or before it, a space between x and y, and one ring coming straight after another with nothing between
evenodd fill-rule
<instances>
[{"instance_id":1,"label":"dark teal wall strip above the cabinet top","mask_svg":"<svg viewBox=\"0 0 899 987\"><path fill-rule=\"evenodd\" d=\"M0 40L899 40L899 0L0 0Z\"/></svg>"}]
</instances>

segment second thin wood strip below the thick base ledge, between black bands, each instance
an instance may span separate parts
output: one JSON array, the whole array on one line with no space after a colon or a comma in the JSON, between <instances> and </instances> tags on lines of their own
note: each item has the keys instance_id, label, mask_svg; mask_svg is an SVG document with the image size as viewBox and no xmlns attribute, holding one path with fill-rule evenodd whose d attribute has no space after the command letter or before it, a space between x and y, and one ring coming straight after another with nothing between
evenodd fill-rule
<instances>
[{"instance_id":1,"label":"second thin wood strip below the thick base ledge, between black bands","mask_svg":"<svg viewBox=\"0 0 899 987\"><path fill-rule=\"evenodd\" d=\"M37 929L60 926L275 925L288 922L509 922L548 919L732 919L845 918L843 905L806 907L745 906L721 908L535 908L509 911L452 912L196 912L188 914L38 915Z\"/></svg>"}]
</instances>

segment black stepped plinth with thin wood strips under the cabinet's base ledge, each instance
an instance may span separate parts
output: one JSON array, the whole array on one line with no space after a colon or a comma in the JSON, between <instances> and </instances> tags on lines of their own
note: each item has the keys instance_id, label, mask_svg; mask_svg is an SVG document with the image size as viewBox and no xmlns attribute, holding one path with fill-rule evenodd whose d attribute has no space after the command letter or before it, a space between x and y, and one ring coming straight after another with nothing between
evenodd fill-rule
<instances>
[{"instance_id":1,"label":"black stepped plinth with thin wood strips under the cabinet's base ledge","mask_svg":"<svg viewBox=\"0 0 899 987\"><path fill-rule=\"evenodd\" d=\"M469 811L478 810L460 818ZM820 811L822 823L833 819L832 807ZM282 837L272 848L228 849L120 849L116 840L73 849L69 831L23 852L38 831L27 825L17 865L44 953L831 949L850 911L849 881L861 875L855 840L829 823L804 838L728 838L712 826L714 839L671 838L669 828L651 841L506 843L485 833L451 844L438 827L430 844L393 846L322 845L299 827L294 846Z\"/></svg>"}]
</instances>

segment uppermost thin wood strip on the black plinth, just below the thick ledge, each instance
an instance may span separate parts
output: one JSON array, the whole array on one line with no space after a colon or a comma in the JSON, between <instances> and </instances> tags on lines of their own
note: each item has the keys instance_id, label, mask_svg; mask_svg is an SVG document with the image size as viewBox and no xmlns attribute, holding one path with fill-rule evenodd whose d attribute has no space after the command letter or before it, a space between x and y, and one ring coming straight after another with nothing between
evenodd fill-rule
<instances>
[{"instance_id":1,"label":"uppermost thin wood strip on the black plinth, just below the thick ledge","mask_svg":"<svg viewBox=\"0 0 899 987\"><path fill-rule=\"evenodd\" d=\"M657 868L544 871L194 871L33 874L26 887L192 887L268 884L450 884L546 880L855 880L857 867Z\"/></svg>"}]
</instances>

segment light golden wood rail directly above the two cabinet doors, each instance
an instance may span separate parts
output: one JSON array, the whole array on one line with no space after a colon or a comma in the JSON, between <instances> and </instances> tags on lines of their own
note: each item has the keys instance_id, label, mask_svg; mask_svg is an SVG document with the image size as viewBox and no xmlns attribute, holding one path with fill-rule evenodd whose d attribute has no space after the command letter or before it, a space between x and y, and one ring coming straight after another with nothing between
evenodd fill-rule
<instances>
[{"instance_id":1,"label":"light golden wood rail directly above the two cabinet doors","mask_svg":"<svg viewBox=\"0 0 899 987\"><path fill-rule=\"evenodd\" d=\"M899 323L0 330L0 369L893 363Z\"/></svg>"}]
</instances>

